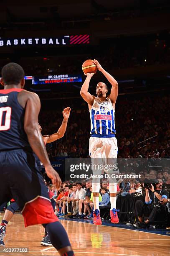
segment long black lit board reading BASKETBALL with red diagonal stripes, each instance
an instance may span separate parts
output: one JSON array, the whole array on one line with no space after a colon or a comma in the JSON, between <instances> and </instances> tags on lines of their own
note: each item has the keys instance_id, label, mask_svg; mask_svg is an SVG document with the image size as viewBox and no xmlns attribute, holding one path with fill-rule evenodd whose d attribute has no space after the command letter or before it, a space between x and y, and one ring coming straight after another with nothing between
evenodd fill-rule
<instances>
[{"instance_id":1,"label":"long black lit board reading BASKETBALL with red diagonal stripes","mask_svg":"<svg viewBox=\"0 0 170 256\"><path fill-rule=\"evenodd\" d=\"M75 44L89 44L89 35L58 36L58 37L36 37L36 38L1 38L2 46L68 46Z\"/></svg>"}]
</instances>

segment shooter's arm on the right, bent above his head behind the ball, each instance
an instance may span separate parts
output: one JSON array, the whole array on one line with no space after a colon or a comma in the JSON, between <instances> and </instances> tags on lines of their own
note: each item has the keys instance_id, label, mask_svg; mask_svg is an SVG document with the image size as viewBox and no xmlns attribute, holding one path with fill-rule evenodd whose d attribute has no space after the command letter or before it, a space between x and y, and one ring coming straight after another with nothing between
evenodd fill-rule
<instances>
[{"instance_id":1,"label":"shooter's arm on the right, bent above his head behind the ball","mask_svg":"<svg viewBox=\"0 0 170 256\"><path fill-rule=\"evenodd\" d=\"M94 62L96 63L99 71L102 74L104 74L104 76L107 78L109 83L112 84L112 89L111 89L111 92L110 92L110 95L109 95L109 99L111 100L112 104L115 105L116 100L117 100L117 96L118 96L118 83L111 74L109 74L106 70L104 70L101 67L101 65L99 64L99 61L94 59Z\"/></svg>"}]
</instances>

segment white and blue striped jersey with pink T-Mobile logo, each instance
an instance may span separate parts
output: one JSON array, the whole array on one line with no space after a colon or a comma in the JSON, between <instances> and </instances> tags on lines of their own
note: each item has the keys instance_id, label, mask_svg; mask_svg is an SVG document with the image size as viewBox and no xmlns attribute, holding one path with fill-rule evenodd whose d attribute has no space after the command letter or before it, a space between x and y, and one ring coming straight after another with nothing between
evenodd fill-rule
<instances>
[{"instance_id":1,"label":"white and blue striped jersey with pink T-Mobile logo","mask_svg":"<svg viewBox=\"0 0 170 256\"><path fill-rule=\"evenodd\" d=\"M97 97L94 98L90 120L92 137L115 137L114 108L109 98L101 102Z\"/></svg>"}]
</instances>

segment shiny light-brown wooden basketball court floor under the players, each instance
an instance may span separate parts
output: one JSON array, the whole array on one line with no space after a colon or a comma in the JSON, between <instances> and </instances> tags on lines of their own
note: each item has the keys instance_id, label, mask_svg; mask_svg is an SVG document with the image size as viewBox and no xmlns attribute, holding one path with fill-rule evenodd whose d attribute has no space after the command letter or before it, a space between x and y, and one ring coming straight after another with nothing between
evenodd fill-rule
<instances>
[{"instance_id":1,"label":"shiny light-brown wooden basketball court floor under the players","mask_svg":"<svg viewBox=\"0 0 170 256\"><path fill-rule=\"evenodd\" d=\"M0 221L3 214L0 213ZM168 256L170 237L136 230L61 220L69 235L76 256ZM15 214L7 227L5 246L29 247L29 254L0 253L0 255L58 255L55 248L40 245L43 227L24 228L22 215Z\"/></svg>"}]
</instances>

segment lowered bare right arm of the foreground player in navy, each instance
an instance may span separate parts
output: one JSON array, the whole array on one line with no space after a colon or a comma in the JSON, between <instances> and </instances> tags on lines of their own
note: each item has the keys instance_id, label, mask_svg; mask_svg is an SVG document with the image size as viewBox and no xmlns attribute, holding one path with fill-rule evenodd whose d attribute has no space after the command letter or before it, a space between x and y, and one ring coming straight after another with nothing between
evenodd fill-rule
<instances>
[{"instance_id":1,"label":"lowered bare right arm of the foreground player in navy","mask_svg":"<svg viewBox=\"0 0 170 256\"><path fill-rule=\"evenodd\" d=\"M48 154L43 142L43 138L38 126L38 114L40 112L41 103L38 95L31 92L23 91L20 93L21 98L19 102L25 100L25 116L24 116L24 130L27 134L28 141L31 148L42 161L48 177L52 180L56 187L61 187L61 179L58 173L51 166Z\"/></svg>"}]
</instances>

